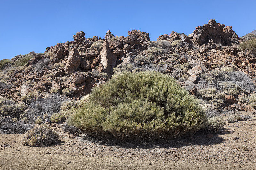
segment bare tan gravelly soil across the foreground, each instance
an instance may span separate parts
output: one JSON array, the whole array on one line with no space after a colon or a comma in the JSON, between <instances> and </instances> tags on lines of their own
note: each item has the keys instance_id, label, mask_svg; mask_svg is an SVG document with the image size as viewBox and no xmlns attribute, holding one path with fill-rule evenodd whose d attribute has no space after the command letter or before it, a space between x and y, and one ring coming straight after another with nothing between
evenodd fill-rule
<instances>
[{"instance_id":1,"label":"bare tan gravelly soil across the foreground","mask_svg":"<svg viewBox=\"0 0 256 170\"><path fill-rule=\"evenodd\" d=\"M204 134L122 146L74 137L55 127L60 142L50 147L21 145L24 134L0 135L1 169L256 169L256 115L226 123L208 139ZM226 117L228 117L227 115ZM237 136L233 140L233 136ZM244 151L244 148L252 151ZM250 149L250 150L251 150ZM71 163L70 163L71 161Z\"/></svg>"}]
</instances>

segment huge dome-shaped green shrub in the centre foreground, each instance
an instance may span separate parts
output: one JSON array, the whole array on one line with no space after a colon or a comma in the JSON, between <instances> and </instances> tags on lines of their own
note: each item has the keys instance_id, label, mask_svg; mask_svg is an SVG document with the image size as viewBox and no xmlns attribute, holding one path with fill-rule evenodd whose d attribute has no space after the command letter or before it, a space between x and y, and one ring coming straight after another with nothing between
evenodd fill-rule
<instances>
[{"instance_id":1,"label":"huge dome-shaped green shrub in the centre foreground","mask_svg":"<svg viewBox=\"0 0 256 170\"><path fill-rule=\"evenodd\" d=\"M123 72L94 88L67 122L93 136L138 142L196 132L207 120L197 100L169 75Z\"/></svg>"}]
</instances>

